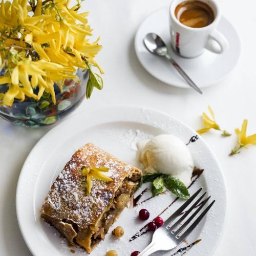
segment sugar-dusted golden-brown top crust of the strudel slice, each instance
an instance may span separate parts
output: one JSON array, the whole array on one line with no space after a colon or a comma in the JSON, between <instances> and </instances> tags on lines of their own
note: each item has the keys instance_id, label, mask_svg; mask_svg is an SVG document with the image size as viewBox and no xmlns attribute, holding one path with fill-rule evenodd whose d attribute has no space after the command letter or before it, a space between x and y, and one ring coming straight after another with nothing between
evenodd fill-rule
<instances>
[{"instance_id":1,"label":"sugar-dusted golden-brown top crust of the strudel slice","mask_svg":"<svg viewBox=\"0 0 256 256\"><path fill-rule=\"evenodd\" d=\"M91 195L86 196L86 181L81 175L83 166L109 167L105 173L113 182L92 179ZM59 220L68 219L81 228L95 224L108 207L119 184L134 169L93 144L81 147L66 164L53 183L42 206L42 213Z\"/></svg>"}]
</instances>

